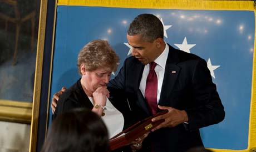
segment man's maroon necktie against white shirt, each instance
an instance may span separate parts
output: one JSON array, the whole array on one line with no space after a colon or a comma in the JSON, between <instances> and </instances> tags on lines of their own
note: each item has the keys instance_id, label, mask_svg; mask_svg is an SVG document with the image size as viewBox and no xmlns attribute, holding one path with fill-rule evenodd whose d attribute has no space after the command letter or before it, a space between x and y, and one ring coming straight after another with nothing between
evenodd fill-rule
<instances>
[{"instance_id":1,"label":"man's maroon necktie against white shirt","mask_svg":"<svg viewBox=\"0 0 256 152\"><path fill-rule=\"evenodd\" d=\"M157 110L157 76L155 72L156 63L150 63L149 75L147 75L145 98L149 104L152 114Z\"/></svg>"}]
</instances>

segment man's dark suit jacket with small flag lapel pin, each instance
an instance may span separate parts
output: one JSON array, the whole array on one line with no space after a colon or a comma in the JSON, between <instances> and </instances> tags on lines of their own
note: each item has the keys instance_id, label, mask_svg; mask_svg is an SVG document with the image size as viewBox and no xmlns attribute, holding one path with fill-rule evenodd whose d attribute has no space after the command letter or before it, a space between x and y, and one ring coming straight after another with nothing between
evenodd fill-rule
<instances>
[{"instance_id":1,"label":"man's dark suit jacket with small flag lapel pin","mask_svg":"<svg viewBox=\"0 0 256 152\"><path fill-rule=\"evenodd\" d=\"M134 114L130 115L134 117L133 120L151 115L139 89L143 70L144 65L139 60L129 57L119 74L108 84L115 106L120 107L129 101L129 108ZM159 105L185 110L189 124L162 128L150 133L145 141L152 141L155 152L185 151L194 146L203 146L199 128L217 124L225 116L205 60L170 45Z\"/></svg>"}]
</instances>

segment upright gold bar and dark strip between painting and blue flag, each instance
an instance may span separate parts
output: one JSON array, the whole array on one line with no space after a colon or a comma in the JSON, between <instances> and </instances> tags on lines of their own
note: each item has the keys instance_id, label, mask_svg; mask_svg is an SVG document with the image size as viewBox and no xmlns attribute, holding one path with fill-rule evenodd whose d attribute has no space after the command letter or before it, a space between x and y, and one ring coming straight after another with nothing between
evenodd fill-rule
<instances>
[{"instance_id":1,"label":"upright gold bar and dark strip between painting and blue flag","mask_svg":"<svg viewBox=\"0 0 256 152\"><path fill-rule=\"evenodd\" d=\"M41 0L29 152L41 150L47 131L56 6L57 1ZM47 28L52 33L47 34Z\"/></svg>"}]
</instances>

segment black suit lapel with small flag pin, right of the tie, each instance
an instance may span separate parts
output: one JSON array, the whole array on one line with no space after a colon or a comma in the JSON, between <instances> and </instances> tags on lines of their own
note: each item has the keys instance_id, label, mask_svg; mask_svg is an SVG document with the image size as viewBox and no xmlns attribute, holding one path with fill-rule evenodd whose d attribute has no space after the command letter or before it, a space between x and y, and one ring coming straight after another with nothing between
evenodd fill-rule
<instances>
[{"instance_id":1,"label":"black suit lapel with small flag pin, right of the tie","mask_svg":"<svg viewBox=\"0 0 256 152\"><path fill-rule=\"evenodd\" d=\"M168 95L172 92L180 72L180 67L176 65L176 63L179 61L179 58L175 51L176 50L169 45L169 53L165 65L164 80L159 99L160 105L165 105L164 103L168 101Z\"/></svg>"}]
</instances>

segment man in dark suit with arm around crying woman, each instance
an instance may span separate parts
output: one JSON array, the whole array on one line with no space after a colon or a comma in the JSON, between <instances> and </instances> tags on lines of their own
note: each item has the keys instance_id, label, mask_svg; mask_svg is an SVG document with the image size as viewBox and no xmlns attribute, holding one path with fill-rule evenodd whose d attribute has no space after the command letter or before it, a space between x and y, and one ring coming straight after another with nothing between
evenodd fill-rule
<instances>
[{"instance_id":1,"label":"man in dark suit with arm around crying woman","mask_svg":"<svg viewBox=\"0 0 256 152\"><path fill-rule=\"evenodd\" d=\"M205 60L174 49L164 42L163 33L163 24L154 15L137 16L127 31L132 57L125 60L107 86L112 98L127 98L134 118L146 118L154 114L147 101L146 85L151 63L155 62L155 110L169 112L152 119L165 121L146 139L150 139L155 152L186 151L203 146L199 128L219 123L225 112ZM114 105L121 107L118 101Z\"/></svg>"}]
</instances>

